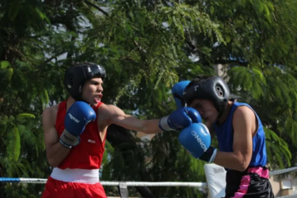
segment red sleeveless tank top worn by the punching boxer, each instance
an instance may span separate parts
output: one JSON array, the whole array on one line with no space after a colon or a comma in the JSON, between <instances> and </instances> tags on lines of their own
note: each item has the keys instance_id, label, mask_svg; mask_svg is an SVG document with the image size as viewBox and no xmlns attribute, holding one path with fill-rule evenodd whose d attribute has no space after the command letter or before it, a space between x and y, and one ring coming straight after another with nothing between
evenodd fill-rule
<instances>
[{"instance_id":1,"label":"red sleeveless tank top worn by the punching boxer","mask_svg":"<svg viewBox=\"0 0 297 198\"><path fill-rule=\"evenodd\" d=\"M99 102L93 107L98 115L98 107L102 104ZM66 115L66 100L59 103L57 118L55 123L56 131L59 137L63 133L64 119ZM99 169L104 153L105 138L101 141L99 136L98 122L91 122L87 124L85 131L80 135L81 142L72 147L67 157L59 164L58 168L80 168L80 169Z\"/></svg>"}]
</instances>

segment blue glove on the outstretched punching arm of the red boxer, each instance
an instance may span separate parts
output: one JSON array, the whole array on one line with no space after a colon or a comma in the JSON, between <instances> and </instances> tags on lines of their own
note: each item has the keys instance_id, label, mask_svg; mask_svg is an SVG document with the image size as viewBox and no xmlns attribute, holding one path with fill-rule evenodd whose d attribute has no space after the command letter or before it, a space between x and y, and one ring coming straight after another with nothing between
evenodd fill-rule
<instances>
[{"instance_id":1,"label":"blue glove on the outstretched punching arm of the red boxer","mask_svg":"<svg viewBox=\"0 0 297 198\"><path fill-rule=\"evenodd\" d=\"M201 116L195 108L183 107L173 111L159 121L159 128L162 131L183 129L192 123L202 122Z\"/></svg>"}]
</instances>

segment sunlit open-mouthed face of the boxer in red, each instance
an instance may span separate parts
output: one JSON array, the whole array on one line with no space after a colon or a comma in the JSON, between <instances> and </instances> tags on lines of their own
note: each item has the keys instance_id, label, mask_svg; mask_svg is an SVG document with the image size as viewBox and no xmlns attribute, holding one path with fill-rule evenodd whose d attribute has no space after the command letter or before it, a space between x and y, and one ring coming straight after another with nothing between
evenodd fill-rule
<instances>
[{"instance_id":1,"label":"sunlit open-mouthed face of the boxer in red","mask_svg":"<svg viewBox=\"0 0 297 198\"><path fill-rule=\"evenodd\" d=\"M101 101L103 81L101 78L93 78L85 82L82 88L82 98L89 102L91 106L96 105Z\"/></svg>"}]
</instances>

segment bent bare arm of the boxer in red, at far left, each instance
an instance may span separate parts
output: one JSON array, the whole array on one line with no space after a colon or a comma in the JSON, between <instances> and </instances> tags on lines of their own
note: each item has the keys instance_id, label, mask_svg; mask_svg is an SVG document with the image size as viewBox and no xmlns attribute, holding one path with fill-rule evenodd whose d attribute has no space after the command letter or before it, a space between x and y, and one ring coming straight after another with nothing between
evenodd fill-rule
<instances>
[{"instance_id":1,"label":"bent bare arm of the boxer in red, at far left","mask_svg":"<svg viewBox=\"0 0 297 198\"><path fill-rule=\"evenodd\" d=\"M59 136L54 127L52 108L46 108L42 115L44 127L45 146L49 165L57 167L68 155L70 149L59 143Z\"/></svg>"}]
</instances>

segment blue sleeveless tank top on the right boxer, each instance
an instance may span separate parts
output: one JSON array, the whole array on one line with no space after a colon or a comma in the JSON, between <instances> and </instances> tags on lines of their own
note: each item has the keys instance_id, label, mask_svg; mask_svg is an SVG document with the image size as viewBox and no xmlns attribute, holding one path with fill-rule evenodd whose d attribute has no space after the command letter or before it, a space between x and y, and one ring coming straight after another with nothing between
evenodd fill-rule
<instances>
[{"instance_id":1,"label":"blue sleeveless tank top on the right boxer","mask_svg":"<svg viewBox=\"0 0 297 198\"><path fill-rule=\"evenodd\" d=\"M217 135L220 151L233 152L233 114L238 106L243 105L248 106L250 109L252 109L247 103L234 102L232 104L227 119L220 126L216 124L213 125L215 133ZM258 120L258 131L252 139L252 156L248 167L265 166L267 161L265 134L263 126L255 111L254 113Z\"/></svg>"}]
</instances>

